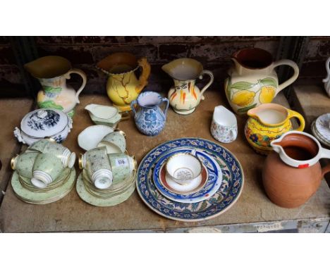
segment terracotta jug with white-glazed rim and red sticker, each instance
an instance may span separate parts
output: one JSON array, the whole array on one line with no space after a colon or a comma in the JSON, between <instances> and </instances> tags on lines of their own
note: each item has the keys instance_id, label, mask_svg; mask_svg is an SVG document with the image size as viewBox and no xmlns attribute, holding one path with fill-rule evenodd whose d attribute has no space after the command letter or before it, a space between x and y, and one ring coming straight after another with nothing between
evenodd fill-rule
<instances>
[{"instance_id":1,"label":"terracotta jug with white-glazed rim and red sticker","mask_svg":"<svg viewBox=\"0 0 330 269\"><path fill-rule=\"evenodd\" d=\"M303 132L288 132L283 141L274 141L278 146L282 144L282 154L291 158L291 162L283 159L289 165L273 151L267 156L262 168L264 189L274 204L284 208L305 204L319 188L324 174L330 172L330 163L321 168L318 161L313 162L313 165L298 165L298 168L291 166L292 160L308 163L317 157L320 145L311 137Z\"/></svg>"}]
</instances>

